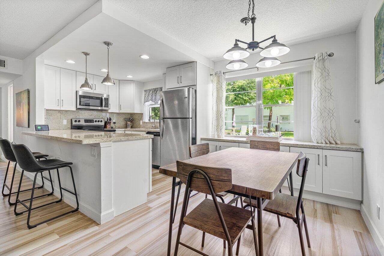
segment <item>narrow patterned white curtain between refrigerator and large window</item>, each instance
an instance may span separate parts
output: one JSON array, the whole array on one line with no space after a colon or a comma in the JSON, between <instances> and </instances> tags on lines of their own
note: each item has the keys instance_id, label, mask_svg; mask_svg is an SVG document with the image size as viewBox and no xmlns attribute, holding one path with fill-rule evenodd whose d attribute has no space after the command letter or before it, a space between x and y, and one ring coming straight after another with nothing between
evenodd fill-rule
<instances>
[{"instance_id":1,"label":"narrow patterned white curtain between refrigerator and large window","mask_svg":"<svg viewBox=\"0 0 384 256\"><path fill-rule=\"evenodd\" d=\"M225 74L217 71L212 76L212 137L224 137Z\"/></svg>"}]
</instances>

